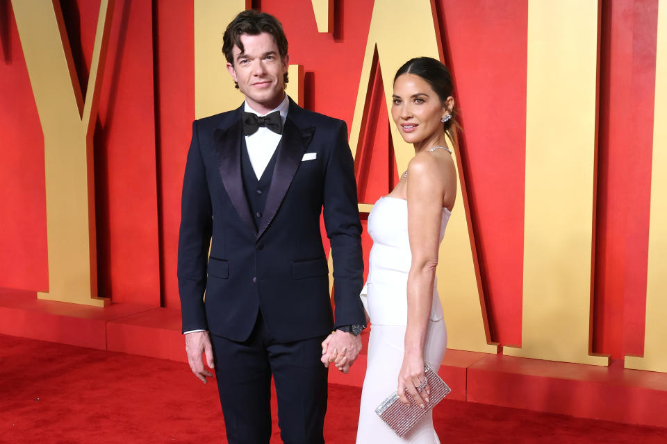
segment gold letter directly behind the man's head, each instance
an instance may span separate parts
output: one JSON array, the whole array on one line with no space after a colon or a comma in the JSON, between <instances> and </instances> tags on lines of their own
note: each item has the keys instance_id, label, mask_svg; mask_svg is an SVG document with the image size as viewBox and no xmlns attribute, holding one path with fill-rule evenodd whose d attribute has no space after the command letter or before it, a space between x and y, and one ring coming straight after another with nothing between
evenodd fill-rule
<instances>
[{"instance_id":1,"label":"gold letter directly behind the man's head","mask_svg":"<svg viewBox=\"0 0 667 444\"><path fill-rule=\"evenodd\" d=\"M243 101L234 87L222 53L222 35L236 15L250 8L249 0L195 0L195 117L229 111ZM287 94L297 103L302 100L303 69L289 67Z\"/></svg>"}]
</instances>

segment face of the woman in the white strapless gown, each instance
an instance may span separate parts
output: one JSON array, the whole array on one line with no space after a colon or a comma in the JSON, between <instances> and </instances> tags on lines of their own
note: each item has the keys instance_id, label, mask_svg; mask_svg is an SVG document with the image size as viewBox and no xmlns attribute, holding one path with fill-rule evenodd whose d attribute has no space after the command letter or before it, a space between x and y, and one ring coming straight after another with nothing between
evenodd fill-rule
<instances>
[{"instance_id":1,"label":"face of the woman in the white strapless gown","mask_svg":"<svg viewBox=\"0 0 667 444\"><path fill-rule=\"evenodd\" d=\"M401 74L394 82L391 117L405 142L437 140L444 132L440 121L449 114L431 85L415 74Z\"/></svg>"}]
</instances>

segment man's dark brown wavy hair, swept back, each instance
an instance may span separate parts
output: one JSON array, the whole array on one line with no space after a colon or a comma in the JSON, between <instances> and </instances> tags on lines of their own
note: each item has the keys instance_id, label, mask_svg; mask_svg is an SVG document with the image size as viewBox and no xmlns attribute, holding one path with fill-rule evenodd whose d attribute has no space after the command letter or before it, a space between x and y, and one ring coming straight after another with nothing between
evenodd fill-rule
<instances>
[{"instance_id":1,"label":"man's dark brown wavy hair, swept back","mask_svg":"<svg viewBox=\"0 0 667 444\"><path fill-rule=\"evenodd\" d=\"M244 51L241 43L241 35L259 35L268 33L272 35L278 45L278 52L281 60L287 56L287 37L283 31L283 26L276 17L266 12L247 10L240 12L224 30L222 36L222 52L227 62L234 65L234 46L238 46L241 52ZM283 74L284 83L288 82L287 73ZM238 88L238 83L234 82Z\"/></svg>"}]
</instances>

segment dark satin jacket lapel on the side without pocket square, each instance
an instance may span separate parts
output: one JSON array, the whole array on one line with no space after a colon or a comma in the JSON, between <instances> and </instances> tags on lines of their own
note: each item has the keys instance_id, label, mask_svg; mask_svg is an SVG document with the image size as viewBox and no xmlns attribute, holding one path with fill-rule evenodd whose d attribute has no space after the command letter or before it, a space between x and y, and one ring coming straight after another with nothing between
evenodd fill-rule
<instances>
[{"instance_id":1,"label":"dark satin jacket lapel on the side without pocket square","mask_svg":"<svg viewBox=\"0 0 667 444\"><path fill-rule=\"evenodd\" d=\"M242 124L238 119L227 129L217 129L213 133L215 141L215 152L218 160L218 171L220 178L227 190L227 196L231 200L238 216L248 225L252 234L257 230L250 214L248 200L243 191L243 178L241 177L241 137Z\"/></svg>"}]
</instances>

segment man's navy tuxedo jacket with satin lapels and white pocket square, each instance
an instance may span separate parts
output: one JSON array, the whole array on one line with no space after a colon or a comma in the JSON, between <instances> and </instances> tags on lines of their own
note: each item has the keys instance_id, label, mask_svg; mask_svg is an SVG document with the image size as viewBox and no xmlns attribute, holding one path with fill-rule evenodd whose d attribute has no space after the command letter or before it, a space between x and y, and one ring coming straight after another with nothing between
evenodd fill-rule
<instances>
[{"instance_id":1,"label":"man's navy tuxedo jacket with satin lapels and white pocket square","mask_svg":"<svg viewBox=\"0 0 667 444\"><path fill-rule=\"evenodd\" d=\"M365 323L361 223L345 122L290 99L255 222L241 173L241 115L242 106L192 123L179 234L183 331L245 341L261 311L281 342L331 332L322 208L334 259L335 325Z\"/></svg>"}]
</instances>

